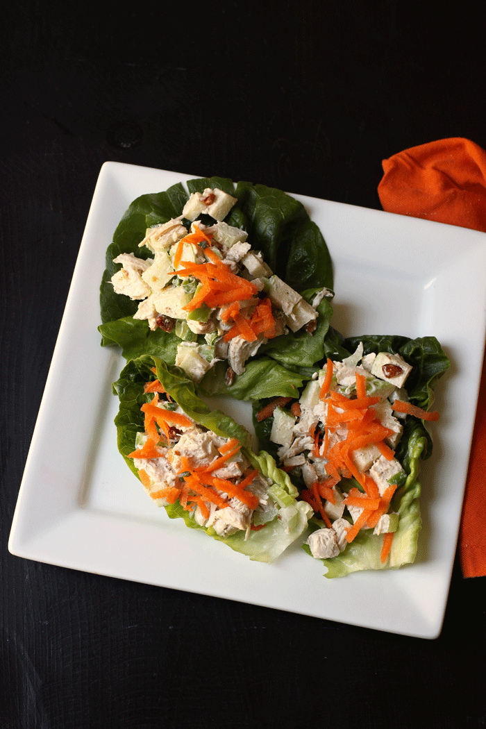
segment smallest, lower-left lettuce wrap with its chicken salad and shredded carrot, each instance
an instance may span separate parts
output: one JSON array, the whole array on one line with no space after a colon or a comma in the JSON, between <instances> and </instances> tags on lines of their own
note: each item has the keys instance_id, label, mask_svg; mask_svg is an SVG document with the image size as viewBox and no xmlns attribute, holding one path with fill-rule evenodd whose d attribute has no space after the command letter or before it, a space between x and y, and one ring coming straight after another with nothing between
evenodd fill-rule
<instances>
[{"instance_id":1,"label":"smallest, lower-left lettuce wrap with its chicken salad and shredded carrot","mask_svg":"<svg viewBox=\"0 0 486 729\"><path fill-rule=\"evenodd\" d=\"M267 563L307 529L312 509L289 476L253 453L246 429L208 408L179 367L138 357L113 390L119 452L170 518Z\"/></svg>"}]
</instances>

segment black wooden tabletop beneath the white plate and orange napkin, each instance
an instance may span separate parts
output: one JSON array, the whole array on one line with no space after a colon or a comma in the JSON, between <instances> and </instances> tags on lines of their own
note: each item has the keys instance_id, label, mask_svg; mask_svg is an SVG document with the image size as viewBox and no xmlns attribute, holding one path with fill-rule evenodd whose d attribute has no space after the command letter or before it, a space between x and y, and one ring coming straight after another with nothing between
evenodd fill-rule
<instances>
[{"instance_id":1,"label":"black wooden tabletop beneath the white plate and orange napkin","mask_svg":"<svg viewBox=\"0 0 486 729\"><path fill-rule=\"evenodd\" d=\"M484 578L412 639L8 553L101 165L380 208L381 160L486 148L481 5L20 1L1 27L1 729L484 729ZM76 383L73 383L76 398Z\"/></svg>"}]
</instances>

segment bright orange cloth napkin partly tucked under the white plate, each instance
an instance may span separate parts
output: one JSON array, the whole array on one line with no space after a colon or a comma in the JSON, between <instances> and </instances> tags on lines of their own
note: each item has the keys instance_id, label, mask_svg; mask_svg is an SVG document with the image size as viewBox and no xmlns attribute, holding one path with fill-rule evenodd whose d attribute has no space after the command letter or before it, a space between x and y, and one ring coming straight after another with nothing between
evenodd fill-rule
<instances>
[{"instance_id":1,"label":"bright orange cloth napkin partly tucked under the white plate","mask_svg":"<svg viewBox=\"0 0 486 729\"><path fill-rule=\"evenodd\" d=\"M469 139L420 144L383 160L378 195L390 213L486 232L486 152ZM486 575L486 358L460 523L464 577Z\"/></svg>"}]
</instances>

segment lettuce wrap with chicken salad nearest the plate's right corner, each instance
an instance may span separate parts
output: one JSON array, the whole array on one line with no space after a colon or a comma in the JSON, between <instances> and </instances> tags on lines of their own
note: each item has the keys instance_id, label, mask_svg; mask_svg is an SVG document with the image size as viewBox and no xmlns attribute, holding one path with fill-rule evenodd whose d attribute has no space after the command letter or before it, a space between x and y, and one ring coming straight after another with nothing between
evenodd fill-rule
<instances>
[{"instance_id":1,"label":"lettuce wrap with chicken salad nearest the plate's right corner","mask_svg":"<svg viewBox=\"0 0 486 729\"><path fill-rule=\"evenodd\" d=\"M332 340L327 364L299 399L289 399L265 418L272 400L254 403L260 447L289 469L301 498L313 506L303 548L321 559L328 578L415 560L420 460L432 451L424 421L438 417L430 412L434 388L450 366L434 337L345 340L333 332ZM328 369L332 378L326 381ZM368 418L375 440L367 435L350 441L355 446L345 460L343 443L358 432L351 418Z\"/></svg>"}]
</instances>

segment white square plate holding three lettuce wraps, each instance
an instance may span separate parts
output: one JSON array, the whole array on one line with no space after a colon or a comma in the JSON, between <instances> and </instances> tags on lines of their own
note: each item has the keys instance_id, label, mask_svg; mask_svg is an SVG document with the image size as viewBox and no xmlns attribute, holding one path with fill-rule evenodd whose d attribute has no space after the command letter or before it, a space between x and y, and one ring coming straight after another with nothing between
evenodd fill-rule
<instances>
[{"instance_id":1,"label":"white square plate holding three lettuce wraps","mask_svg":"<svg viewBox=\"0 0 486 729\"><path fill-rule=\"evenodd\" d=\"M217 172L217 171L216 171ZM187 590L399 634L435 638L449 590L486 330L486 238L474 230L294 195L334 262L334 319L344 335L435 335L452 366L439 382L423 463L423 529L415 564L326 580L293 545L251 562L170 520L117 451L111 394L124 362L101 348L106 247L132 200L189 175L106 163L69 291L28 453L9 550L85 572ZM227 403L246 426L246 403ZM75 416L73 416L75 413Z\"/></svg>"}]
</instances>

